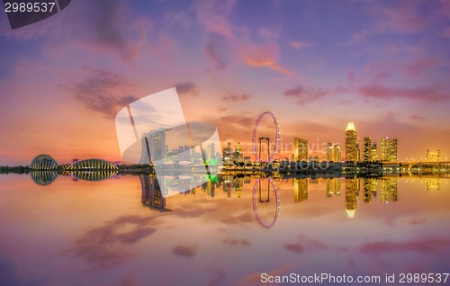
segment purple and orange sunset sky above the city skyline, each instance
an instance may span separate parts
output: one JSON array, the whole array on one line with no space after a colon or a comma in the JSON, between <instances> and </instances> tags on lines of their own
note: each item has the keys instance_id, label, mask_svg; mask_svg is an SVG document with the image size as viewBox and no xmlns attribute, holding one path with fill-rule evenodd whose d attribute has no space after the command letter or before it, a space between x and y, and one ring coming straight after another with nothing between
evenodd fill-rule
<instances>
[{"instance_id":1,"label":"purple and orange sunset sky above the city skyline","mask_svg":"<svg viewBox=\"0 0 450 286\"><path fill-rule=\"evenodd\" d=\"M449 1L72 1L11 30L0 13L0 165L121 160L114 116L176 87L188 121L251 149L258 116L311 155L347 123L400 160L449 156ZM265 118L258 136L275 137ZM247 154L249 155L249 153Z\"/></svg>"}]
</instances>

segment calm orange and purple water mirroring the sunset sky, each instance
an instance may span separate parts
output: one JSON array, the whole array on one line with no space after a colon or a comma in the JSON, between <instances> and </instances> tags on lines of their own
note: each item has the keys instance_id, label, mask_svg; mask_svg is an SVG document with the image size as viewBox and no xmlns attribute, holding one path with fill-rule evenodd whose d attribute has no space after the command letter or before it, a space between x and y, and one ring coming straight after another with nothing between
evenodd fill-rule
<instances>
[{"instance_id":1,"label":"calm orange and purple water mirroring the sunset sky","mask_svg":"<svg viewBox=\"0 0 450 286\"><path fill-rule=\"evenodd\" d=\"M222 176L166 201L152 180L59 175L42 186L0 175L0 284L258 285L261 273L450 272L446 178Z\"/></svg>"}]
</instances>

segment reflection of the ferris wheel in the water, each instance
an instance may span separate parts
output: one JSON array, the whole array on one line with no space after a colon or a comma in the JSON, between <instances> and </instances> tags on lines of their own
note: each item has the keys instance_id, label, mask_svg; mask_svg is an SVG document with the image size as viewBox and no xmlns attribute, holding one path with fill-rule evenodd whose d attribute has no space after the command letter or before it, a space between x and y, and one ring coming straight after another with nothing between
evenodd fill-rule
<instances>
[{"instance_id":1,"label":"reflection of the ferris wheel in the water","mask_svg":"<svg viewBox=\"0 0 450 286\"><path fill-rule=\"evenodd\" d=\"M267 182L267 192L266 190L263 191L264 182ZM276 210L274 219L271 223L267 224L260 218L257 212L257 204L269 202L271 201L271 199L273 200L273 196L271 197L271 190L273 190L273 193L275 194ZM278 219L278 216L280 214L280 197L278 196L278 191L276 190L275 182L274 180L272 180L272 178L267 177L257 179L257 182L253 187L253 210L255 211L255 217L257 218L257 221L263 228L272 228L275 226L276 220Z\"/></svg>"}]
</instances>

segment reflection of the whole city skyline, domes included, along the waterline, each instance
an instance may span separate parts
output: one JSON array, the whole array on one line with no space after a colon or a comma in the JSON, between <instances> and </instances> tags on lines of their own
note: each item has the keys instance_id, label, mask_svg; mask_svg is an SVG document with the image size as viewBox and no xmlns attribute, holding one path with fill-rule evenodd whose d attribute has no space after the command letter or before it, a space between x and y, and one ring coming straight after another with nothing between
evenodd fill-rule
<instances>
[{"instance_id":1,"label":"reflection of the whole city skyline, domes included, along the waterline","mask_svg":"<svg viewBox=\"0 0 450 286\"><path fill-rule=\"evenodd\" d=\"M35 183L46 186L53 183L58 174L72 176L73 180L85 180L91 182L103 181L110 178L120 178L116 170L98 170L98 171L64 171L58 173L57 171L32 171L31 178ZM198 191L215 198L218 191L221 190L226 194L228 199L233 197L240 199L245 189L244 185L254 182L253 187L253 209L258 223L264 228L272 228L275 225L279 216L280 199L279 193L275 186L275 178L281 177L262 177L257 174L220 174L220 175L203 175L192 174L189 176L183 175L161 175L154 174L139 174L139 183L141 186L141 203L150 210L157 210L159 212L172 211L167 208L166 198L175 194L192 194L195 195ZM358 208L358 197L360 195L361 187L363 187L362 200L369 204L377 199L377 194L380 193L379 200L385 204L398 201L398 177L310 177L310 178L290 178L293 186L293 202L305 202L309 199L309 186L314 190L317 186L325 184L320 187L325 189L326 197L340 196L342 190L342 183L345 185L345 210L348 218L356 216ZM198 182L202 185L197 186ZM440 190L440 178L427 178L427 190ZM187 191L184 191L187 190ZM221 196L221 194L220 194ZM263 222L258 214L257 208L267 204L275 199L275 209L271 210L274 213L274 219L270 222ZM266 209L265 209L266 210ZM271 217L272 218L272 217Z\"/></svg>"}]
</instances>

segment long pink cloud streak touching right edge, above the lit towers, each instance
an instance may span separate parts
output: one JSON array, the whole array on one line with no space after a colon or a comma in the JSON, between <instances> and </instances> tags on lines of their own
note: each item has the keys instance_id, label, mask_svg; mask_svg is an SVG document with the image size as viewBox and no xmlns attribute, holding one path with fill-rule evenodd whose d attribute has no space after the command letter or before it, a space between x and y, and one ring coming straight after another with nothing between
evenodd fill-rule
<instances>
[{"instance_id":1,"label":"long pink cloud streak touching right edge, above the lit towers","mask_svg":"<svg viewBox=\"0 0 450 286\"><path fill-rule=\"evenodd\" d=\"M450 98L450 93L442 93L433 87L396 88L383 85L365 85L359 88L359 93L366 98L390 100L404 98L409 100L442 102Z\"/></svg>"}]
</instances>

